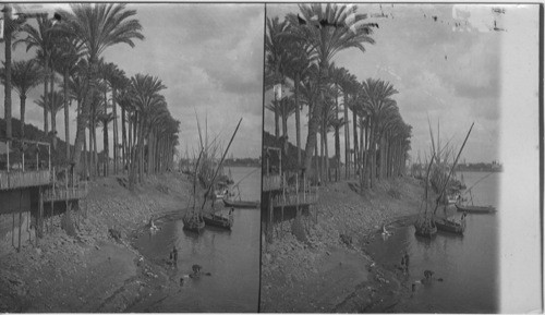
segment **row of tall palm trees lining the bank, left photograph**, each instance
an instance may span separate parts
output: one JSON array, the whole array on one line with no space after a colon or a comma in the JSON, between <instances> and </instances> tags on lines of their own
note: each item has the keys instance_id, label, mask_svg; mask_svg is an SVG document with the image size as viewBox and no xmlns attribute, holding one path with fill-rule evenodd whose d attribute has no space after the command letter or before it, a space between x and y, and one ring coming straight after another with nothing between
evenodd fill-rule
<instances>
[{"instance_id":1,"label":"row of tall palm trees lining the bank, left photograph","mask_svg":"<svg viewBox=\"0 0 545 315\"><path fill-rule=\"evenodd\" d=\"M5 7L8 10L4 11L9 11L9 5ZM43 84L44 92L36 104L44 110L44 131L50 135L53 152L57 150L57 113L64 109L68 143L69 108L73 102L76 105L74 146L71 150L66 145L63 154L75 170L92 178L109 175L112 156L113 173L128 172L133 186L144 180L144 173L172 168L180 122L168 110L161 94L166 88L162 81L148 74L128 77L117 64L101 57L111 46L126 44L134 47L135 40L144 39L142 25L133 19L136 11L128 10L125 4L78 3L71 4L71 12L58 14L60 22L46 15L38 15L36 23L24 16L7 21L5 35L10 38L5 41L7 51L11 53L12 48L23 45L31 54L29 59L13 63L7 58L1 72L4 86L13 86L21 99L20 136L24 138L27 94ZM5 119L11 122L11 90L5 93L5 107L10 107ZM100 126L101 161L96 134ZM113 132L112 155L109 152L110 126ZM11 135L10 123L8 138Z\"/></svg>"}]
</instances>

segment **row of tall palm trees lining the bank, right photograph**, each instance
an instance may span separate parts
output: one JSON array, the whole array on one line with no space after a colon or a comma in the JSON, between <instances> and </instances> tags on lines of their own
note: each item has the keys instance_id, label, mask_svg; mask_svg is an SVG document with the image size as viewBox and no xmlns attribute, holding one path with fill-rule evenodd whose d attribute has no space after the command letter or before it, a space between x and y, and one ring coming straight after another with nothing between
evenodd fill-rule
<instances>
[{"instance_id":1,"label":"row of tall palm trees lining the bank, right photograph","mask_svg":"<svg viewBox=\"0 0 545 315\"><path fill-rule=\"evenodd\" d=\"M266 22L266 89L274 89L274 100L266 108L275 114L275 135L288 134L288 118L295 114L298 165L314 169L318 179L329 180L334 169L340 178L340 129L344 129L346 178L360 174L361 186L373 186L375 179L404 172L410 149L411 126L399 113L398 92L385 81L359 82L344 68L336 66L335 56L344 49L365 52L373 45L373 29L367 15L356 7L300 4L300 12L281 21ZM286 93L278 93L286 87ZM342 96L342 97L341 97ZM302 156L301 110L307 107L307 137ZM352 112L352 118L349 117ZM340 114L340 116L339 116ZM350 121L352 120L352 121ZM352 131L350 130L352 124ZM330 168L328 133L335 133L334 168ZM352 133L352 141L350 138ZM320 152L318 153L317 135Z\"/></svg>"}]
</instances>

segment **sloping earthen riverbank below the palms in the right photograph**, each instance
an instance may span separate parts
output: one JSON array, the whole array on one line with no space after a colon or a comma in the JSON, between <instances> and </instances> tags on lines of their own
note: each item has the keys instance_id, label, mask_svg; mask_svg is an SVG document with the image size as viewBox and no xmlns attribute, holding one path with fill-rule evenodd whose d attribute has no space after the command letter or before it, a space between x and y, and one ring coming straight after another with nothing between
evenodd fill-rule
<instances>
[{"instance_id":1,"label":"sloping earthen riverbank below the palms in the right photograph","mask_svg":"<svg viewBox=\"0 0 545 315\"><path fill-rule=\"evenodd\" d=\"M306 242L287 232L263 247L261 312L388 312L410 294L401 275L376 264L364 245L384 223L412 221L424 186L400 178L359 195L355 185L320 189L318 223Z\"/></svg>"}]
</instances>

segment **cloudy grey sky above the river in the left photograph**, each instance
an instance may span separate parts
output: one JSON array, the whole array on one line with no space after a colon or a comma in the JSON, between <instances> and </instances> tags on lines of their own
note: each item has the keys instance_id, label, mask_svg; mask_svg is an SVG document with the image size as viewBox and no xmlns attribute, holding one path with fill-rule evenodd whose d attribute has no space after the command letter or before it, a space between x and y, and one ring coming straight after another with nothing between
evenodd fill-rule
<instances>
[{"instance_id":1,"label":"cloudy grey sky above the river in the left photograph","mask_svg":"<svg viewBox=\"0 0 545 315\"><path fill-rule=\"evenodd\" d=\"M45 5L47 11L58 5ZM162 80L164 95L173 118L181 121L179 150L191 156L198 147L196 114L203 133L218 136L227 146L240 118L240 130L229 156L261 156L263 121L264 4L129 4L143 27L144 40L136 46L109 47L104 58L128 76L150 74ZM25 35L23 35L25 36ZM4 46L0 45L4 60ZM29 59L23 46L13 60ZM26 121L44 126L41 109L34 105L43 87L29 93ZM3 88L0 92L3 100ZM19 95L12 93L12 112L19 118ZM3 117L3 101L0 105ZM71 108L71 143L75 138L75 106ZM57 116L59 137L64 140L62 112ZM101 133L101 128L99 128ZM110 132L110 137L112 133ZM99 137L101 138L101 137ZM112 140L110 140L110 145ZM102 148L102 144L98 144ZM112 149L110 148L110 153Z\"/></svg>"}]
</instances>

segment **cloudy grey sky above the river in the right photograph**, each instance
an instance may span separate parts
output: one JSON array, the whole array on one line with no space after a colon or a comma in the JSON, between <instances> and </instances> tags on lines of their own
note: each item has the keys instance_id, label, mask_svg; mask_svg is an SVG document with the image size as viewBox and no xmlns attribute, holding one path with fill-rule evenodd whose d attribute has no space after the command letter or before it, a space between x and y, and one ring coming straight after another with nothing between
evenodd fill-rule
<instances>
[{"instance_id":1,"label":"cloudy grey sky above the river in the right photograph","mask_svg":"<svg viewBox=\"0 0 545 315\"><path fill-rule=\"evenodd\" d=\"M410 155L422 160L429 153L428 118L437 137L459 148L471 123L475 126L461 156L467 162L499 160L500 48L505 32L505 14L494 13L493 5L468 4L358 4L359 13L376 22L375 45L366 51L347 49L337 53L334 62L354 74L360 82L372 77L389 82L399 92L396 99L405 123L412 125ZM299 12L294 4L268 4L267 16ZM388 17L374 17L384 13ZM437 16L434 21L433 16ZM459 23L459 26L456 25ZM270 102L272 94L266 94ZM265 130L274 133L274 113L265 111ZM351 112L349 113L351 117ZM304 110L306 126L306 109ZM294 116L290 117L289 138L295 142ZM350 119L350 125L352 120ZM352 131L352 125L350 126ZM344 134L341 129L341 158ZM352 137L352 135L350 135ZM306 140L303 133L302 142ZM334 133L328 136L329 154L334 156Z\"/></svg>"}]
</instances>

